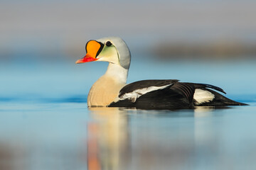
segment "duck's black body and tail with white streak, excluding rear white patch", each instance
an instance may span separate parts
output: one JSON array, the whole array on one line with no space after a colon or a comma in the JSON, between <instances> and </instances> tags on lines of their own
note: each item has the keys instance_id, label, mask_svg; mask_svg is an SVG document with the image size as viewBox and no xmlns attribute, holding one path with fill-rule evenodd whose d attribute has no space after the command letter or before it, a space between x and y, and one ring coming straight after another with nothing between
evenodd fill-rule
<instances>
[{"instance_id":1,"label":"duck's black body and tail with white streak, excluding rear white patch","mask_svg":"<svg viewBox=\"0 0 256 170\"><path fill-rule=\"evenodd\" d=\"M194 99L196 89L210 92L210 94L214 95L213 99L202 103L196 102ZM136 81L124 86L119 92L119 100L110 103L109 107L180 109L194 108L195 106L247 105L230 100L217 91L225 94L225 91L218 86L183 83L178 82L176 79Z\"/></svg>"}]
</instances>

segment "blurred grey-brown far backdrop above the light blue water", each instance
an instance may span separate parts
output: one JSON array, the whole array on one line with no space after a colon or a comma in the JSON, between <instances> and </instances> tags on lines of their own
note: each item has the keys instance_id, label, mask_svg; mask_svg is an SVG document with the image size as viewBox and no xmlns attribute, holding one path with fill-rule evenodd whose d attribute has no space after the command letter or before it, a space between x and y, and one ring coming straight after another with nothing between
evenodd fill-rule
<instances>
[{"instance_id":1,"label":"blurred grey-brown far backdrop above the light blue water","mask_svg":"<svg viewBox=\"0 0 256 170\"><path fill-rule=\"evenodd\" d=\"M115 35L129 42L132 52L203 58L255 55L255 4L250 0L2 0L1 54L75 57L87 40Z\"/></svg>"}]
</instances>

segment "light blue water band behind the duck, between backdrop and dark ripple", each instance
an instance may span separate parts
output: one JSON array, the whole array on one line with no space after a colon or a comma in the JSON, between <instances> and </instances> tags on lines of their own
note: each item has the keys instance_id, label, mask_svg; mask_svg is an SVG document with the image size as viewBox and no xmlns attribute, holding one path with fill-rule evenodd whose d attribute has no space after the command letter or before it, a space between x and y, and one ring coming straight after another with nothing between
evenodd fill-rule
<instances>
[{"instance_id":1,"label":"light blue water band behind the duck, between backdrop and dark ripple","mask_svg":"<svg viewBox=\"0 0 256 170\"><path fill-rule=\"evenodd\" d=\"M105 73L107 63L67 62L0 63L0 101L80 98ZM132 58L127 83L142 79L179 79L220 86L234 99L256 101L256 60L235 62L158 61ZM85 100L86 101L86 100Z\"/></svg>"}]
</instances>

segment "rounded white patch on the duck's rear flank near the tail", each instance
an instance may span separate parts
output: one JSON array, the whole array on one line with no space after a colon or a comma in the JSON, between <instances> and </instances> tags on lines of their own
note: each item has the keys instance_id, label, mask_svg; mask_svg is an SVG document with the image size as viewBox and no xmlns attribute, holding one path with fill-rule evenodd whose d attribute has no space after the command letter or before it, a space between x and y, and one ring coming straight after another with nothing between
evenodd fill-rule
<instances>
[{"instance_id":1,"label":"rounded white patch on the duck's rear flank near the tail","mask_svg":"<svg viewBox=\"0 0 256 170\"><path fill-rule=\"evenodd\" d=\"M196 89L193 96L193 99L196 100L197 104L213 101L213 98L215 98L214 94L202 89Z\"/></svg>"}]
</instances>

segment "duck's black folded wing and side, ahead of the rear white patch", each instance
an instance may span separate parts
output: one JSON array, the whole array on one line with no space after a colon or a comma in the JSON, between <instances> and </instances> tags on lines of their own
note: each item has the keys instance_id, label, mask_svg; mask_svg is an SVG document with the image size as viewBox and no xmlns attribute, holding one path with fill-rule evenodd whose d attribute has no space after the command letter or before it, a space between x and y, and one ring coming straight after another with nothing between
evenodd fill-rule
<instances>
[{"instance_id":1,"label":"duck's black folded wing and side, ahead of the rear white patch","mask_svg":"<svg viewBox=\"0 0 256 170\"><path fill-rule=\"evenodd\" d=\"M144 80L124 86L119 100L110 107L135 107L143 109L176 109L193 107L193 84L178 80Z\"/></svg>"}]
</instances>

